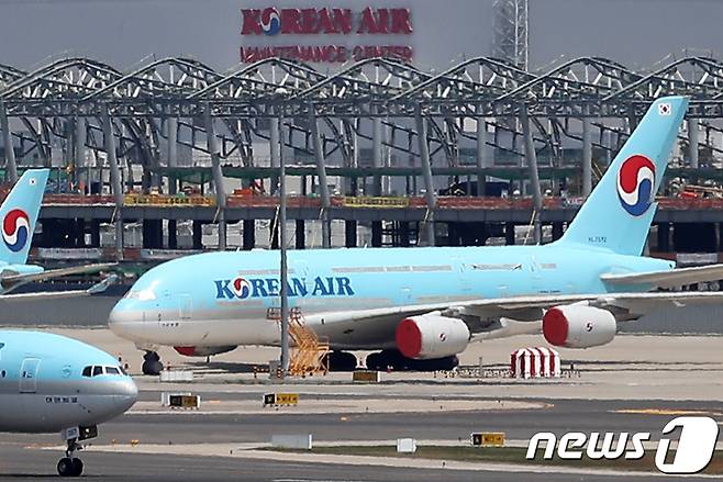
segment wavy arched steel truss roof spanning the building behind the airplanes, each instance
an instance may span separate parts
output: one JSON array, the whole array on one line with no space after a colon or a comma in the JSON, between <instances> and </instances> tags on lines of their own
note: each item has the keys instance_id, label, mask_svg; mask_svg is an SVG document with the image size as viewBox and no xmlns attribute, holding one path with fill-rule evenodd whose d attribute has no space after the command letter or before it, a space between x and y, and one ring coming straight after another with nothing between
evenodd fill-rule
<instances>
[{"instance_id":1,"label":"wavy arched steel truss roof spanning the building behind the airplanes","mask_svg":"<svg viewBox=\"0 0 723 482\"><path fill-rule=\"evenodd\" d=\"M188 58L164 58L131 72L92 59L56 60L23 72L0 65L0 99L9 115L300 115L408 116L422 104L430 115L600 116L639 113L664 94L691 98L691 115L720 116L723 64L685 57L650 72L604 58L581 57L544 74L479 57L441 74L374 58L326 75L285 59L266 59L218 72Z\"/></svg>"}]
</instances>

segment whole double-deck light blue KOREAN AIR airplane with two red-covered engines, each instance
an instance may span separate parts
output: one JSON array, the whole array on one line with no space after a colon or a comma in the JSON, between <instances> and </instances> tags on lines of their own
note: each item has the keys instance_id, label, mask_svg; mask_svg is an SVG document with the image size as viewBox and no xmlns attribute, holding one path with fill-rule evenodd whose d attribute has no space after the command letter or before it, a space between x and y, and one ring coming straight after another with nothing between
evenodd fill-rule
<instances>
[{"instance_id":1,"label":"whole double-deck light blue KOREAN AIR airplane with two red-covered engines","mask_svg":"<svg viewBox=\"0 0 723 482\"><path fill-rule=\"evenodd\" d=\"M688 101L663 98L620 150L564 236L545 246L289 251L289 303L341 350L380 350L369 368L440 369L486 337L542 332L555 346L613 339L616 324L667 305L720 303L723 293L655 292L723 279L723 266L675 269L642 257ZM280 343L278 251L188 256L151 269L110 314L110 328L146 350L205 356Z\"/></svg>"}]
</instances>

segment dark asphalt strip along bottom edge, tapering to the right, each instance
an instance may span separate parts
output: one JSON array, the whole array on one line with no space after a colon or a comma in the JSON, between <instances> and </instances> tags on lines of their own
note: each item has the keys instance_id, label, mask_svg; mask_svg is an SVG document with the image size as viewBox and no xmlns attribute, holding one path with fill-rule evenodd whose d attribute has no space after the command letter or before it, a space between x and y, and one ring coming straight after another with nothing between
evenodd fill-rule
<instances>
[{"instance_id":1,"label":"dark asphalt strip along bottom edge, tapering to the right","mask_svg":"<svg viewBox=\"0 0 723 482\"><path fill-rule=\"evenodd\" d=\"M46 481L56 479L58 456L47 450L1 446L0 480ZM81 480L108 482L153 480L154 482L479 482L483 480L516 482L610 482L621 480L620 474L540 473L535 469L523 471L464 471L377 466L341 466L333 463L299 463L278 460L232 459L220 457L189 458L166 455L129 455L87 452ZM639 479L670 481L663 475L626 475L625 480ZM689 478L688 481L707 481L708 478Z\"/></svg>"}]
</instances>

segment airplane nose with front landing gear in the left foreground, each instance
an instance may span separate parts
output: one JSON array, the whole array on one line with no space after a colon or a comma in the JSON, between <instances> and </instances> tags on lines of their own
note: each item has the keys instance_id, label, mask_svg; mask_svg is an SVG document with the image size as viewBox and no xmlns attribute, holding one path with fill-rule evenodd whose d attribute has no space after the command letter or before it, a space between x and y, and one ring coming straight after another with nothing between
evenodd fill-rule
<instances>
[{"instance_id":1,"label":"airplane nose with front landing gear in the left foreground","mask_svg":"<svg viewBox=\"0 0 723 482\"><path fill-rule=\"evenodd\" d=\"M138 391L110 355L41 332L0 330L0 431L49 434L66 440L63 477L78 477L80 441L127 411Z\"/></svg>"}]
</instances>

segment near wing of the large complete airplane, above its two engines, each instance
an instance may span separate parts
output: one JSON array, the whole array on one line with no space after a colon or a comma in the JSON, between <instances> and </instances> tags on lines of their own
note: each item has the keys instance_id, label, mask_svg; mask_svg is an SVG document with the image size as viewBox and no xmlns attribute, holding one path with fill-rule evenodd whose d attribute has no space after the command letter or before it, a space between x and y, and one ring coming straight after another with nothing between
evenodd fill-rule
<instances>
[{"instance_id":1,"label":"near wing of the large complete airplane, above its two engines","mask_svg":"<svg viewBox=\"0 0 723 482\"><path fill-rule=\"evenodd\" d=\"M540 333L545 311L585 303L611 312L619 322L637 320L653 310L701 304L723 304L723 292L642 292L605 294L540 294L454 301L385 309L340 311L305 315L319 333L348 349L394 348L394 332L408 316L438 313L467 324L472 339L502 338Z\"/></svg>"}]
</instances>

